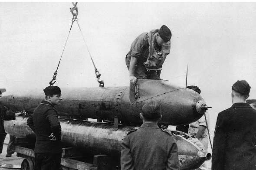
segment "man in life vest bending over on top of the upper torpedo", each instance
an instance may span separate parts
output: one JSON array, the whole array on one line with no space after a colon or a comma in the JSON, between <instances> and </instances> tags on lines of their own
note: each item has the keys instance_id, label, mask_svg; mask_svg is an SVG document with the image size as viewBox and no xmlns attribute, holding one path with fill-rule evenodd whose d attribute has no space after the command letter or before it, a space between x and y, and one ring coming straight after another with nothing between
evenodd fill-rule
<instances>
[{"instance_id":1,"label":"man in life vest bending over on top of the upper torpedo","mask_svg":"<svg viewBox=\"0 0 256 170\"><path fill-rule=\"evenodd\" d=\"M142 33L131 44L125 62L130 72L130 82L138 79L160 79L161 68L170 53L171 31L163 25L149 33Z\"/></svg>"}]
</instances>

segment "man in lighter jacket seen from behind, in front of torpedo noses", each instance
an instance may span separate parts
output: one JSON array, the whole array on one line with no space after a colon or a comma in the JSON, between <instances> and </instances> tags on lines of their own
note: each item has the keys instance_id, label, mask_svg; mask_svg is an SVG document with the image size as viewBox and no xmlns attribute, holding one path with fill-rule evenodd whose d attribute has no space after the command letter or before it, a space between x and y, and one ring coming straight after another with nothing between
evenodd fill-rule
<instances>
[{"instance_id":1,"label":"man in lighter jacket seen from behind, in front of torpedo noses","mask_svg":"<svg viewBox=\"0 0 256 170\"><path fill-rule=\"evenodd\" d=\"M178 148L174 137L158 127L161 107L154 99L143 105L143 124L121 142L121 170L179 169Z\"/></svg>"}]
</instances>

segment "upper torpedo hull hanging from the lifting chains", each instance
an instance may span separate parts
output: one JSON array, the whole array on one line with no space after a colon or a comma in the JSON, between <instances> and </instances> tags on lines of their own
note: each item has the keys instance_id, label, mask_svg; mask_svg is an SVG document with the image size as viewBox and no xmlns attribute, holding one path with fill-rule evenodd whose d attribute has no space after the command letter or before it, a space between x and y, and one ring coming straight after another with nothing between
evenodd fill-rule
<instances>
[{"instance_id":1,"label":"upper torpedo hull hanging from the lifting chains","mask_svg":"<svg viewBox=\"0 0 256 170\"><path fill-rule=\"evenodd\" d=\"M189 124L197 121L205 110L203 98L188 88L169 84L166 80L138 80L138 98L132 98L129 87L62 88L63 102L56 106L58 114L76 119L95 118L141 124L142 106L149 98L159 102L163 118L159 123ZM43 90L4 92L0 104L13 111L33 112L44 99Z\"/></svg>"}]
</instances>

